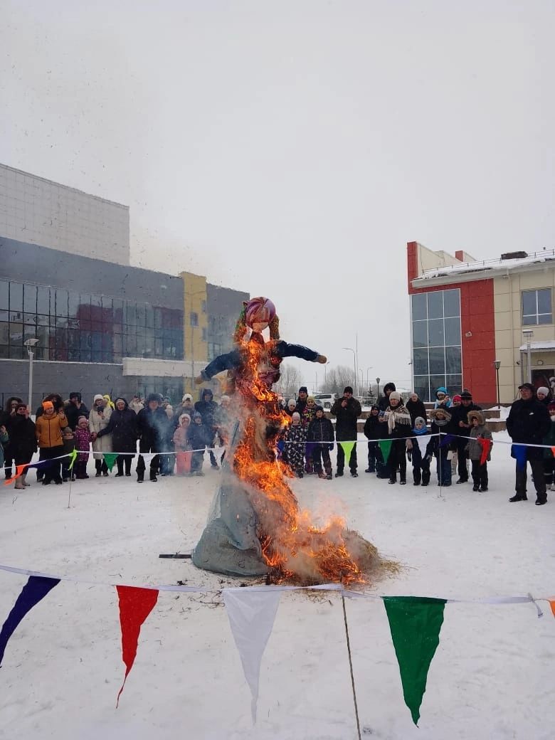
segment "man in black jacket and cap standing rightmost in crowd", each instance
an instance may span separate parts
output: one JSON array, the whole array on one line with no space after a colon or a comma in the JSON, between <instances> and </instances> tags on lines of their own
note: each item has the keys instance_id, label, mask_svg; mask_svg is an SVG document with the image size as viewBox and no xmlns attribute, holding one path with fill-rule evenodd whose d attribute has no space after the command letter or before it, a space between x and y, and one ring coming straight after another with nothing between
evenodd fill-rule
<instances>
[{"instance_id":1,"label":"man in black jacket and cap standing rightmost in crowd","mask_svg":"<svg viewBox=\"0 0 555 740\"><path fill-rule=\"evenodd\" d=\"M551 428L551 419L547 406L534 396L534 386L531 383L523 383L519 386L520 398L511 406L507 417L507 431L509 437L515 444L528 443L529 445L541 445L543 438ZM522 448L520 448L522 450ZM536 488L536 504L547 503L548 494L545 488L543 475L543 450L541 447L525 448L524 466L519 465L517 454L517 475L515 490L517 493L509 501L526 501L526 462L530 462L532 475L534 476L534 487Z\"/></svg>"}]
</instances>

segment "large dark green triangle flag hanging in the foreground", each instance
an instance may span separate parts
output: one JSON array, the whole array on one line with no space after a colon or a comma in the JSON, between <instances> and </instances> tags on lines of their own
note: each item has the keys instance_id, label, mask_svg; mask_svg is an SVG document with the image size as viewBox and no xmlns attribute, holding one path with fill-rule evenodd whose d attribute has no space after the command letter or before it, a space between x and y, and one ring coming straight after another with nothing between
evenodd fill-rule
<instances>
[{"instance_id":1,"label":"large dark green triangle flag hanging in the foreground","mask_svg":"<svg viewBox=\"0 0 555 740\"><path fill-rule=\"evenodd\" d=\"M418 724L431 659L440 644L445 599L382 596L403 684L405 704Z\"/></svg>"}]
</instances>

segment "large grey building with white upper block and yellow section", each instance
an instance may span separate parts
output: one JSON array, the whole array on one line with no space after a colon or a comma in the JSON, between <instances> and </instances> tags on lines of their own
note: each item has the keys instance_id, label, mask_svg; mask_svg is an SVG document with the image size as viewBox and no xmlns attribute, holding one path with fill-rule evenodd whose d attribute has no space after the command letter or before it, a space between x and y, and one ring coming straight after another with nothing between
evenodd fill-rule
<instances>
[{"instance_id":1,"label":"large grey building with white upper block and yellow section","mask_svg":"<svg viewBox=\"0 0 555 740\"><path fill-rule=\"evenodd\" d=\"M0 165L0 174L7 170L18 172ZM98 231L75 221L78 210L64 222L64 239L58 229L55 248L46 241L8 238L3 230L24 235L19 226L30 223L27 212L13 213L17 198L10 188L2 201L8 203L1 216L7 221L0 220L0 403L10 395L27 400L28 339L38 340L33 408L52 392L67 397L81 391L89 402L98 392L130 397L155 391L174 402L185 389L197 393L193 377L231 349L235 321L249 294L190 272L169 275L129 265L127 206L118 206L127 214L127 231L121 229L118 243L105 241L115 233L113 224L100 223ZM71 243L66 241L70 223L76 224ZM46 240L47 232L41 236L37 227L34 234ZM83 239L94 241L94 248L85 248Z\"/></svg>"}]
</instances>

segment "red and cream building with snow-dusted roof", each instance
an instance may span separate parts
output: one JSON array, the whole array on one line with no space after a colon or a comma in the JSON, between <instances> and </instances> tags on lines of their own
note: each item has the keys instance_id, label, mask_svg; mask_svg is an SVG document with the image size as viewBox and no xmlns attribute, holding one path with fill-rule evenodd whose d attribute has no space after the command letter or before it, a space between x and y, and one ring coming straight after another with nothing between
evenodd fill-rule
<instances>
[{"instance_id":1,"label":"red and cream building with snow-dusted roof","mask_svg":"<svg viewBox=\"0 0 555 740\"><path fill-rule=\"evenodd\" d=\"M475 260L407 243L414 389L433 400L469 388L478 403L511 403L528 379L555 377L555 250ZM529 344L529 348L528 348ZM531 365L528 369L528 349Z\"/></svg>"}]
</instances>

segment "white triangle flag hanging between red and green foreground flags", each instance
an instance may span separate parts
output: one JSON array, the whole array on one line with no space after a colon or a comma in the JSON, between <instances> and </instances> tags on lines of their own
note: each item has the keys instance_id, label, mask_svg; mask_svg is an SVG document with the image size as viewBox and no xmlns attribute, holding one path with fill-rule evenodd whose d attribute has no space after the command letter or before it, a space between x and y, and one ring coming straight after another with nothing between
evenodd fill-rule
<instances>
[{"instance_id":1,"label":"white triangle flag hanging between red and green foreground flags","mask_svg":"<svg viewBox=\"0 0 555 740\"><path fill-rule=\"evenodd\" d=\"M252 694L252 721L256 722L260 662L272 633L280 591L252 591L250 588L225 588L229 626L239 650L243 672Z\"/></svg>"}]
</instances>

